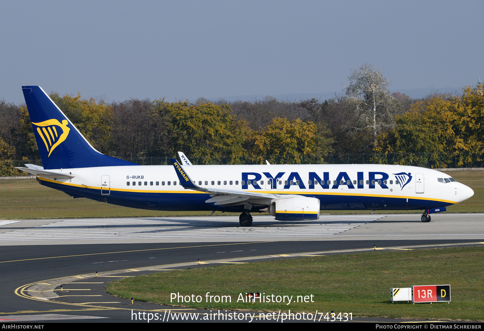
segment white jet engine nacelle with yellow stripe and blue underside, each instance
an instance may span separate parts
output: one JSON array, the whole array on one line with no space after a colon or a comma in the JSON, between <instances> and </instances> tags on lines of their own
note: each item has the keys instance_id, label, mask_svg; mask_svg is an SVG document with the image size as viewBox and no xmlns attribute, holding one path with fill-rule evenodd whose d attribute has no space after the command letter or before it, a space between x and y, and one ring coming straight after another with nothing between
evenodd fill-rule
<instances>
[{"instance_id":1,"label":"white jet engine nacelle with yellow stripe and blue underside","mask_svg":"<svg viewBox=\"0 0 484 331\"><path fill-rule=\"evenodd\" d=\"M278 221L318 220L319 199L298 195L281 197L275 201L274 216Z\"/></svg>"}]
</instances>

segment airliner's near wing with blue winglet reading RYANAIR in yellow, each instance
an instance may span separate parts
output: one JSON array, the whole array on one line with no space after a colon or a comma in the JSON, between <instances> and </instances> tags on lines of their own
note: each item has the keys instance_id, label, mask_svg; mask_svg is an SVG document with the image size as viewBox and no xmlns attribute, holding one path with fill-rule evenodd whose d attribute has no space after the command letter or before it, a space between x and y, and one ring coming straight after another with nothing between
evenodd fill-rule
<instances>
[{"instance_id":1,"label":"airliner's near wing with blue winglet reading RYANAIR in yellow","mask_svg":"<svg viewBox=\"0 0 484 331\"><path fill-rule=\"evenodd\" d=\"M180 185L183 186L183 188L212 194L212 198L205 201L206 203L214 203L217 206L236 206L244 203L270 205L281 196L268 193L215 189L199 186L196 181L188 176L176 159L172 158L171 163L175 167L178 179L180 180Z\"/></svg>"}]
</instances>

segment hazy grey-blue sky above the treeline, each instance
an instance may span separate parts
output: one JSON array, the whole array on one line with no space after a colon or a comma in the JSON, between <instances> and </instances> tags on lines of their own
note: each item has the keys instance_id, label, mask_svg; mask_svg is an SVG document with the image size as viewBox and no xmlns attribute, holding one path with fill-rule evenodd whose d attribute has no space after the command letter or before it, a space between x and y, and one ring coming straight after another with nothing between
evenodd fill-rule
<instances>
[{"instance_id":1,"label":"hazy grey-blue sky above the treeline","mask_svg":"<svg viewBox=\"0 0 484 331\"><path fill-rule=\"evenodd\" d=\"M351 68L391 90L461 88L483 71L484 1L0 1L0 99L327 93Z\"/></svg>"}]
</instances>

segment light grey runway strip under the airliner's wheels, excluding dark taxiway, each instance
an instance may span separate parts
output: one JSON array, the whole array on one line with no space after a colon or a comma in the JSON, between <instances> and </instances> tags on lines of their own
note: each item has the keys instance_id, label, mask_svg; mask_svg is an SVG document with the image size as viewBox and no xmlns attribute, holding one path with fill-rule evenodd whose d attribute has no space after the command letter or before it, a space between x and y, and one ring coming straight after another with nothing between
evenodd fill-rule
<instances>
[{"instance_id":1,"label":"light grey runway strip under the airliner's wheels, excluding dark taxiway","mask_svg":"<svg viewBox=\"0 0 484 331\"><path fill-rule=\"evenodd\" d=\"M484 239L484 214L321 215L317 221L276 221L255 216L241 227L237 216L23 220L0 223L0 245L238 242L273 240ZM15 223L12 223L15 222Z\"/></svg>"}]
</instances>

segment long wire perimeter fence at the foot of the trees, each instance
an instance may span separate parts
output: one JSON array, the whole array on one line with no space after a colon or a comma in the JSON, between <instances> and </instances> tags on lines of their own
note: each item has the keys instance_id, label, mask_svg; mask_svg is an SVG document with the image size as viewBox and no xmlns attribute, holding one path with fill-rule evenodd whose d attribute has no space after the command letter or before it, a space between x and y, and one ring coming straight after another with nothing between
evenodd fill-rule
<instances>
[{"instance_id":1,"label":"long wire perimeter fence at the foot of the trees","mask_svg":"<svg viewBox=\"0 0 484 331\"><path fill-rule=\"evenodd\" d=\"M304 155L265 155L265 156L212 156L197 157L187 155L194 165L257 165L266 164L384 164L414 165L432 169L461 169L484 167L484 152L462 153L333 153ZM139 165L171 165L171 156L126 158ZM176 157L179 159L178 155ZM23 160L0 160L1 177L28 176L16 166L25 164L42 165L42 161L24 158Z\"/></svg>"}]
</instances>

